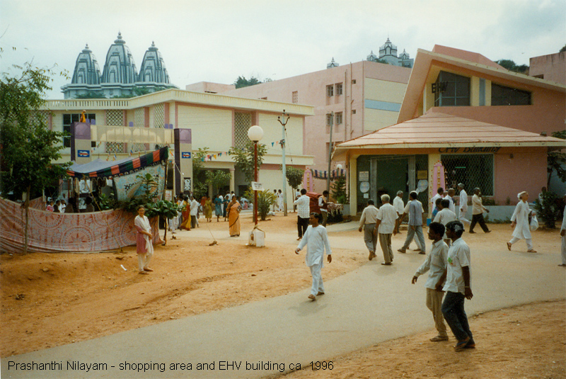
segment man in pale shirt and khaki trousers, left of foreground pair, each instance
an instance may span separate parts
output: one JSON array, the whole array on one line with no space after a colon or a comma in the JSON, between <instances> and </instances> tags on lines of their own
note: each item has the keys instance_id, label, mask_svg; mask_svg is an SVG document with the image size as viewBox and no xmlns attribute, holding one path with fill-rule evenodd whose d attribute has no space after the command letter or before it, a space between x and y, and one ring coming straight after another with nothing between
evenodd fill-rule
<instances>
[{"instance_id":1,"label":"man in pale shirt and khaki trousers, left of foreground pair","mask_svg":"<svg viewBox=\"0 0 566 379\"><path fill-rule=\"evenodd\" d=\"M442 316L442 298L444 292L437 290L436 285L439 278L446 270L446 259L448 257L448 245L442 240L444 236L444 225L440 222L432 222L429 225L429 239L432 240L432 247L427 259L417 269L415 276L412 277L412 284L417 283L417 278L423 273L429 271L429 278L424 287L427 288L427 307L432 312L434 325L437 327L438 335L432 337L432 342L448 341L446 334L446 325L444 325L444 317ZM442 283L444 285L444 283Z\"/></svg>"}]
</instances>

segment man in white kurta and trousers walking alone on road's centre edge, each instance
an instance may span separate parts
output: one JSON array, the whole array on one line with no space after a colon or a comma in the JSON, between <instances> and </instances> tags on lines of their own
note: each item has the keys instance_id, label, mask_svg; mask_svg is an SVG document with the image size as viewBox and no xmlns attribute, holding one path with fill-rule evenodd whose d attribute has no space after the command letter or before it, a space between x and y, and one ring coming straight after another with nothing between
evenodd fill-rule
<instances>
[{"instance_id":1,"label":"man in white kurta and trousers walking alone on road's centre edge","mask_svg":"<svg viewBox=\"0 0 566 379\"><path fill-rule=\"evenodd\" d=\"M324 295L323 277L320 271L323 268L324 251L328 255L328 263L332 262L332 251L330 251L330 242L328 241L328 233L326 228L318 225L321 215L318 213L311 213L308 222L311 224L306 228L303 239L299 242L299 247L296 248L295 254L306 245L305 263L306 266L311 268L311 275L313 276L313 285L311 287L311 295L308 298L316 300L317 295Z\"/></svg>"}]
</instances>

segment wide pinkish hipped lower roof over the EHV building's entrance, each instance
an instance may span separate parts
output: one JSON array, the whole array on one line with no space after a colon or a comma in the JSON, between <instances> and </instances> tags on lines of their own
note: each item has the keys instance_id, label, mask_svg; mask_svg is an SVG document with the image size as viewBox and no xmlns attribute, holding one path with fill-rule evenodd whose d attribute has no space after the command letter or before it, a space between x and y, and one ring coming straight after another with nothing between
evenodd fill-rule
<instances>
[{"instance_id":1,"label":"wide pinkish hipped lower roof over the EHV building's entrance","mask_svg":"<svg viewBox=\"0 0 566 379\"><path fill-rule=\"evenodd\" d=\"M337 145L336 149L397 147L566 147L566 141L524 130L429 112Z\"/></svg>"}]
</instances>

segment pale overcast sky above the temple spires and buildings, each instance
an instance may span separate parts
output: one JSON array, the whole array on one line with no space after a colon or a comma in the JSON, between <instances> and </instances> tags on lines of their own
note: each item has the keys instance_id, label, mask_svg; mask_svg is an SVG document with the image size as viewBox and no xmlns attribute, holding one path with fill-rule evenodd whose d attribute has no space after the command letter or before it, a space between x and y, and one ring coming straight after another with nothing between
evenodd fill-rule
<instances>
[{"instance_id":1,"label":"pale overcast sky above the temple spires and buildings","mask_svg":"<svg viewBox=\"0 0 566 379\"><path fill-rule=\"evenodd\" d=\"M529 64L566 44L566 0L0 0L2 72L33 60L72 75L87 43L102 71L119 31L137 69L155 41L185 89L359 62L388 37L412 58L445 45ZM56 78L48 97L63 98L67 82Z\"/></svg>"}]
</instances>

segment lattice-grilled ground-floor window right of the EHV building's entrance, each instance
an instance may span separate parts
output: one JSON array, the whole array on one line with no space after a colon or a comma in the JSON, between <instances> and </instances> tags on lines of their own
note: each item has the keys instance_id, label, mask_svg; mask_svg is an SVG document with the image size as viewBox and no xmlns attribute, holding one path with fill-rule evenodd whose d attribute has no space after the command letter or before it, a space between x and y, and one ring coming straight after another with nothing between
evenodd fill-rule
<instances>
[{"instance_id":1,"label":"lattice-grilled ground-floor window right of the EHV building's entrance","mask_svg":"<svg viewBox=\"0 0 566 379\"><path fill-rule=\"evenodd\" d=\"M478 187L485 196L493 196L493 154L442 154L446 187L463 183L466 193Z\"/></svg>"}]
</instances>

